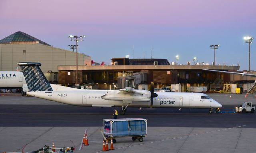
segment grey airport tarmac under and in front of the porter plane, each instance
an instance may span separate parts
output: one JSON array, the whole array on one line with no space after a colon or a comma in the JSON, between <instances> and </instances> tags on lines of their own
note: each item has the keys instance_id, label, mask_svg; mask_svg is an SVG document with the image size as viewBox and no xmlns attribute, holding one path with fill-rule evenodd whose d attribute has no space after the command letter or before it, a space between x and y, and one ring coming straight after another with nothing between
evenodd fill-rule
<instances>
[{"instance_id":1,"label":"grey airport tarmac under and in front of the porter plane","mask_svg":"<svg viewBox=\"0 0 256 153\"><path fill-rule=\"evenodd\" d=\"M255 94L208 94L222 104L221 111L233 111ZM232 98L230 98L230 95ZM74 146L77 153L102 150L103 119L113 108L78 107L19 94L0 93L0 152L24 152L42 148ZM129 108L118 118L148 119L148 136L143 142L131 137L116 138L113 153L240 153L256 152L255 113L208 114L207 109ZM88 146L78 150L87 129ZM71 142L72 141L72 142ZM109 142L110 146L110 142Z\"/></svg>"}]
</instances>

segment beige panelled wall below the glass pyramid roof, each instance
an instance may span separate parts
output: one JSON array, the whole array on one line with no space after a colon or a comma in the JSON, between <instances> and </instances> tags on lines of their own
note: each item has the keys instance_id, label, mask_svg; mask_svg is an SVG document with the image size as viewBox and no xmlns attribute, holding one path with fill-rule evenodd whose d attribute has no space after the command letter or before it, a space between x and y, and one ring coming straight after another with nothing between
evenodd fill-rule
<instances>
[{"instance_id":1,"label":"beige panelled wall below the glass pyramid roof","mask_svg":"<svg viewBox=\"0 0 256 153\"><path fill-rule=\"evenodd\" d=\"M0 71L15 71L18 62L38 62L45 73L58 65L76 66L76 52L41 44L0 44ZM91 65L91 57L78 53L78 65Z\"/></svg>"}]
</instances>

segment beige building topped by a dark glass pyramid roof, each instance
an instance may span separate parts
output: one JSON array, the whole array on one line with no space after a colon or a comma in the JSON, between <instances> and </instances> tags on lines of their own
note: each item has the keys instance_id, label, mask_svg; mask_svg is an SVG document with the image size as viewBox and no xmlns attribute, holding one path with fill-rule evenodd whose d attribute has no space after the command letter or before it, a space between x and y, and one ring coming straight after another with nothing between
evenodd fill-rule
<instances>
[{"instance_id":1,"label":"beige building topped by a dark glass pyramid roof","mask_svg":"<svg viewBox=\"0 0 256 153\"><path fill-rule=\"evenodd\" d=\"M76 52L60 49L18 31L0 40L0 71L20 69L18 62L38 62L46 77L58 82L58 65L74 65ZM91 65L91 57L78 53L78 65Z\"/></svg>"}]
</instances>

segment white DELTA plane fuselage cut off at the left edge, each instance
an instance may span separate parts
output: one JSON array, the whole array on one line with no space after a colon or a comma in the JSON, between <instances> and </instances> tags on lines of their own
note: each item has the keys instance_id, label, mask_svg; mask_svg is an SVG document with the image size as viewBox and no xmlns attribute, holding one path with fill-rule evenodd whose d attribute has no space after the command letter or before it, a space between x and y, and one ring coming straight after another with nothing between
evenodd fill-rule
<instances>
[{"instance_id":1,"label":"white DELTA plane fuselage cut off at the left edge","mask_svg":"<svg viewBox=\"0 0 256 153\"><path fill-rule=\"evenodd\" d=\"M22 88L25 83L21 71L0 71L0 88Z\"/></svg>"}]
</instances>

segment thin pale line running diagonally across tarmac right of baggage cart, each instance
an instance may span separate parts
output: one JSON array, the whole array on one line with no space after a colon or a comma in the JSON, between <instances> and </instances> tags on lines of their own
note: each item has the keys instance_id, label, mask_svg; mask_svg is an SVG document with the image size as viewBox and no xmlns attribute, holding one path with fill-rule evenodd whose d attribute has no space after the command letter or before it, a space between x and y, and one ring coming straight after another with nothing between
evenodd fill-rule
<instances>
[{"instance_id":1,"label":"thin pale line running diagonally across tarmac right of baggage cart","mask_svg":"<svg viewBox=\"0 0 256 153\"><path fill-rule=\"evenodd\" d=\"M244 126L246 126L246 125L244 125ZM233 128L219 129L219 130L216 130L216 131L203 132L203 133L198 133L198 134L193 134L193 135L186 135L186 136L182 136L182 137L174 137L174 138L170 138L170 139L164 139L164 140L159 140L159 141L142 143L142 144L138 144L138 145L146 145L146 144L150 144L150 143L168 141L168 140L173 140L173 139L180 139L180 138L183 138L183 137L191 137L191 136L195 136L195 135L201 135L201 134L206 134L206 133L213 133L213 132L218 132L218 131L224 131L224 130L228 130L228 129L241 128L241 127L244 127L244 126L236 126L236 127L233 127ZM128 148L128 147L135 147L135 146L138 146L138 145L130 145L130 146L127 146L127 147L120 147L120 148L115 148L115 149L124 149L124 148ZM100 153L100 152L102 152L102 151L98 151L98 152L94 152L94 153Z\"/></svg>"}]
</instances>

